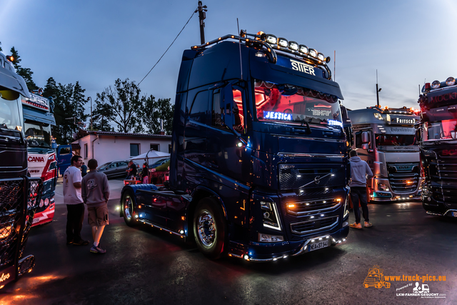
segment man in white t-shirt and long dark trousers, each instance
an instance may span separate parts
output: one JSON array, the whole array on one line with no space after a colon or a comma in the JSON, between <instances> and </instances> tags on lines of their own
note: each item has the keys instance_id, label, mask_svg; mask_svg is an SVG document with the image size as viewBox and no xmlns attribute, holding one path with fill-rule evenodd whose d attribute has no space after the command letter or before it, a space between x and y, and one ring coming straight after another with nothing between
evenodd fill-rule
<instances>
[{"instance_id":1,"label":"man in white t-shirt and long dark trousers","mask_svg":"<svg viewBox=\"0 0 457 305\"><path fill-rule=\"evenodd\" d=\"M66 244L83 246L89 241L81 239L84 220L84 203L81 196L81 156L71 157L71 166L64 172L64 203L66 204Z\"/></svg>"}]
</instances>

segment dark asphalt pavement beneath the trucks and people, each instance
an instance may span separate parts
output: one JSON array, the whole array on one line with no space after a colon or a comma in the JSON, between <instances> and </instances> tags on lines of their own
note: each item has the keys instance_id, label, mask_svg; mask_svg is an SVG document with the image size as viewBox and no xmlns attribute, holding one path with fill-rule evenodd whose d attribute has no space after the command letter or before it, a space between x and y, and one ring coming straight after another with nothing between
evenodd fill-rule
<instances>
[{"instance_id":1,"label":"dark asphalt pavement beneath the trucks and people","mask_svg":"<svg viewBox=\"0 0 457 305\"><path fill-rule=\"evenodd\" d=\"M66 206L57 201L54 221L29 236L36 267L1 289L0 304L457 303L457 219L429 216L420 202L370 204L373 227L351 229L338 246L269 263L211 261L178 236L126 226L115 210L122 181L110 186L107 253L66 245ZM86 219L82 235L91 239ZM373 267L390 288L363 286Z\"/></svg>"}]
</instances>

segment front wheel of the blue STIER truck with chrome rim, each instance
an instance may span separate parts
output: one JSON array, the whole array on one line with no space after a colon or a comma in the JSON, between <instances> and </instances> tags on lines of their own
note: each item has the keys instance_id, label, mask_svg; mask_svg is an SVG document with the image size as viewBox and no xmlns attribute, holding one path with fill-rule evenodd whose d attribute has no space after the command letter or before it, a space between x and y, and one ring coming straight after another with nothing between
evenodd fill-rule
<instances>
[{"instance_id":1,"label":"front wheel of the blue STIER truck with chrome rim","mask_svg":"<svg viewBox=\"0 0 457 305\"><path fill-rule=\"evenodd\" d=\"M210 259L224 252L227 224L220 204L211 197L201 199L194 213L194 237L197 247Z\"/></svg>"}]
</instances>

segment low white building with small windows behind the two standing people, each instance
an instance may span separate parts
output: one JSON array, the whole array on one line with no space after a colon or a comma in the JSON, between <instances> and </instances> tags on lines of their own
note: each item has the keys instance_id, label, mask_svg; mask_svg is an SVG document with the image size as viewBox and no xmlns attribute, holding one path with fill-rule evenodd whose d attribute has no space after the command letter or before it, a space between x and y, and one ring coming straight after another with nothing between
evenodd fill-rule
<instances>
[{"instance_id":1,"label":"low white building with small windows behind the two standing people","mask_svg":"<svg viewBox=\"0 0 457 305\"><path fill-rule=\"evenodd\" d=\"M85 164L90 159L96 159L101 165L126 160L144 154L149 149L170 153L171 135L87 131L86 136L72 142L71 146L76 154L83 157Z\"/></svg>"}]
</instances>

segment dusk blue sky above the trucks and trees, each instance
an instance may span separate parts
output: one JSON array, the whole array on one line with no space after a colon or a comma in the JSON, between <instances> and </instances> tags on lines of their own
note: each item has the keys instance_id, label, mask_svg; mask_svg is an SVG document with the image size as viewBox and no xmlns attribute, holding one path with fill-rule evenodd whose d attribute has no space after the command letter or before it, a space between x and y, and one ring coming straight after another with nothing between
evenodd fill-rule
<instances>
[{"instance_id":1,"label":"dusk blue sky above the trucks and trees","mask_svg":"<svg viewBox=\"0 0 457 305\"><path fill-rule=\"evenodd\" d=\"M376 69L382 106L414 106L424 80L457 77L453 56L455 0L216 1L203 0L206 41L264 31L306 44L325 56L349 109L376 105ZM38 86L49 77L79 81L86 96L118 78L143 79L198 5L197 0L51 1L1 0L4 54L19 51ZM171 98L184 49L200 44L199 16L189 24L141 83L142 94ZM89 112L89 109L86 110Z\"/></svg>"}]
</instances>

